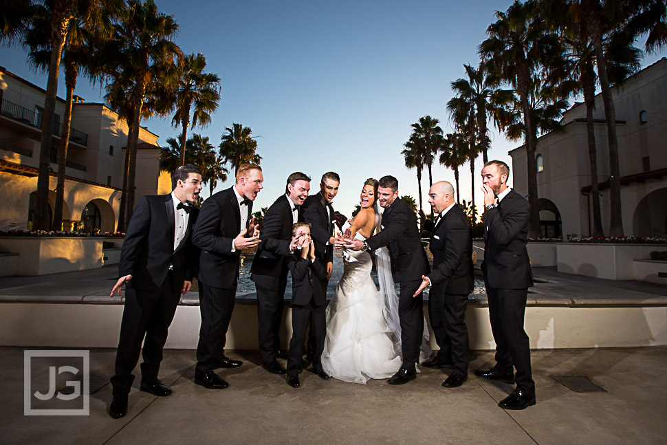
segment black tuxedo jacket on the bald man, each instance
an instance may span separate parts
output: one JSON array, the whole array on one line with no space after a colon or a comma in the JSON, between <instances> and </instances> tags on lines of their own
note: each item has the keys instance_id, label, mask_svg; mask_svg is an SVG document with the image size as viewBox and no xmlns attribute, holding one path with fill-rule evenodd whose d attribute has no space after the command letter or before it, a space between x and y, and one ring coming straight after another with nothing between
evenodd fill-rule
<instances>
[{"instance_id":1,"label":"black tuxedo jacket on the bald man","mask_svg":"<svg viewBox=\"0 0 667 445\"><path fill-rule=\"evenodd\" d=\"M454 204L433 228L430 251L433 272L428 274L432 292L468 295L472 292L472 228L461 207Z\"/></svg>"}]
</instances>

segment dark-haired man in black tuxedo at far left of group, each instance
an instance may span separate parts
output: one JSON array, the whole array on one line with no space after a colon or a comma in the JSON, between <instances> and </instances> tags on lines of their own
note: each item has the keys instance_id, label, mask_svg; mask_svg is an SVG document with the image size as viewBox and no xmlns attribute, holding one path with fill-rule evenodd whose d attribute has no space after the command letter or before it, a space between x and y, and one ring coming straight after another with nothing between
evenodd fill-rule
<instances>
[{"instance_id":1,"label":"dark-haired man in black tuxedo at far left of group","mask_svg":"<svg viewBox=\"0 0 667 445\"><path fill-rule=\"evenodd\" d=\"M142 342L140 390L160 396L172 392L157 378L157 372L179 297L192 285L197 252L190 235L197 219L193 204L201 191L201 173L191 164L182 165L174 171L172 182L170 194L139 199L120 250L120 279L111 289L111 296L120 296L122 286L127 286L116 375L111 378L109 415L114 419L127 414L132 371L139 361Z\"/></svg>"}]
</instances>

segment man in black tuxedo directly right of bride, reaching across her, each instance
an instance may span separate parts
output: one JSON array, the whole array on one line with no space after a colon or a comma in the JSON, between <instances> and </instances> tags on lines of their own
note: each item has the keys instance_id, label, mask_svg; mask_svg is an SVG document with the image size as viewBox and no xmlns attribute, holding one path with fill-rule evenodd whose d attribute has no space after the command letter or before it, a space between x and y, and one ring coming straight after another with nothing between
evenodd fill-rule
<instances>
[{"instance_id":1,"label":"man in black tuxedo directly right of bride, reaching across her","mask_svg":"<svg viewBox=\"0 0 667 445\"><path fill-rule=\"evenodd\" d=\"M398 315L401 322L403 365L387 383L404 384L417 376L416 365L424 333L424 301L421 292L415 298L413 294L422 284L422 275L429 272L428 259L419 239L417 215L408 203L398 197L398 180L395 177L380 178L378 202L384 208L382 231L366 241L339 239L336 245L353 250L389 248L391 274L401 288Z\"/></svg>"}]
</instances>

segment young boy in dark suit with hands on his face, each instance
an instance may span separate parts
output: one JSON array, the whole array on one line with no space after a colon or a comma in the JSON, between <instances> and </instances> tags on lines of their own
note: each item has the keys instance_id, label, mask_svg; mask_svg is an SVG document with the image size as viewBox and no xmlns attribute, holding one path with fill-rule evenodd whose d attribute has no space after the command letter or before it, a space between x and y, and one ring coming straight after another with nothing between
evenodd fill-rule
<instances>
[{"instance_id":1,"label":"young boy in dark suit with hands on his face","mask_svg":"<svg viewBox=\"0 0 667 445\"><path fill-rule=\"evenodd\" d=\"M327 336L325 306L327 296L322 291L320 280L327 278L327 270L315 257L315 246L310 237L311 225L298 222L292 226L292 239L297 240L294 253L288 255L287 268L292 273L292 340L289 340L287 358L287 384L298 388L301 383L298 374L302 368L303 341L306 338L308 321L314 329L316 349L313 358L313 372L320 378L329 376L322 370L322 349Z\"/></svg>"}]
</instances>

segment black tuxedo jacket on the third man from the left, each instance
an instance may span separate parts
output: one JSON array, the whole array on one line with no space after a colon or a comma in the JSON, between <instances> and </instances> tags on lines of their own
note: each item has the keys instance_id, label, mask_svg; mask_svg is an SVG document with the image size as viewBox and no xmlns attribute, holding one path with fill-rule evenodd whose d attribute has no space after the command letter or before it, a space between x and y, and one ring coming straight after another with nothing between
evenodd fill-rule
<instances>
[{"instance_id":1,"label":"black tuxedo jacket on the third man from the left","mask_svg":"<svg viewBox=\"0 0 667 445\"><path fill-rule=\"evenodd\" d=\"M299 219L300 220L300 219ZM261 227L262 242L252 260L250 279L269 290L280 290L287 281L285 255L292 241L292 206L281 195L267 210Z\"/></svg>"}]
</instances>

